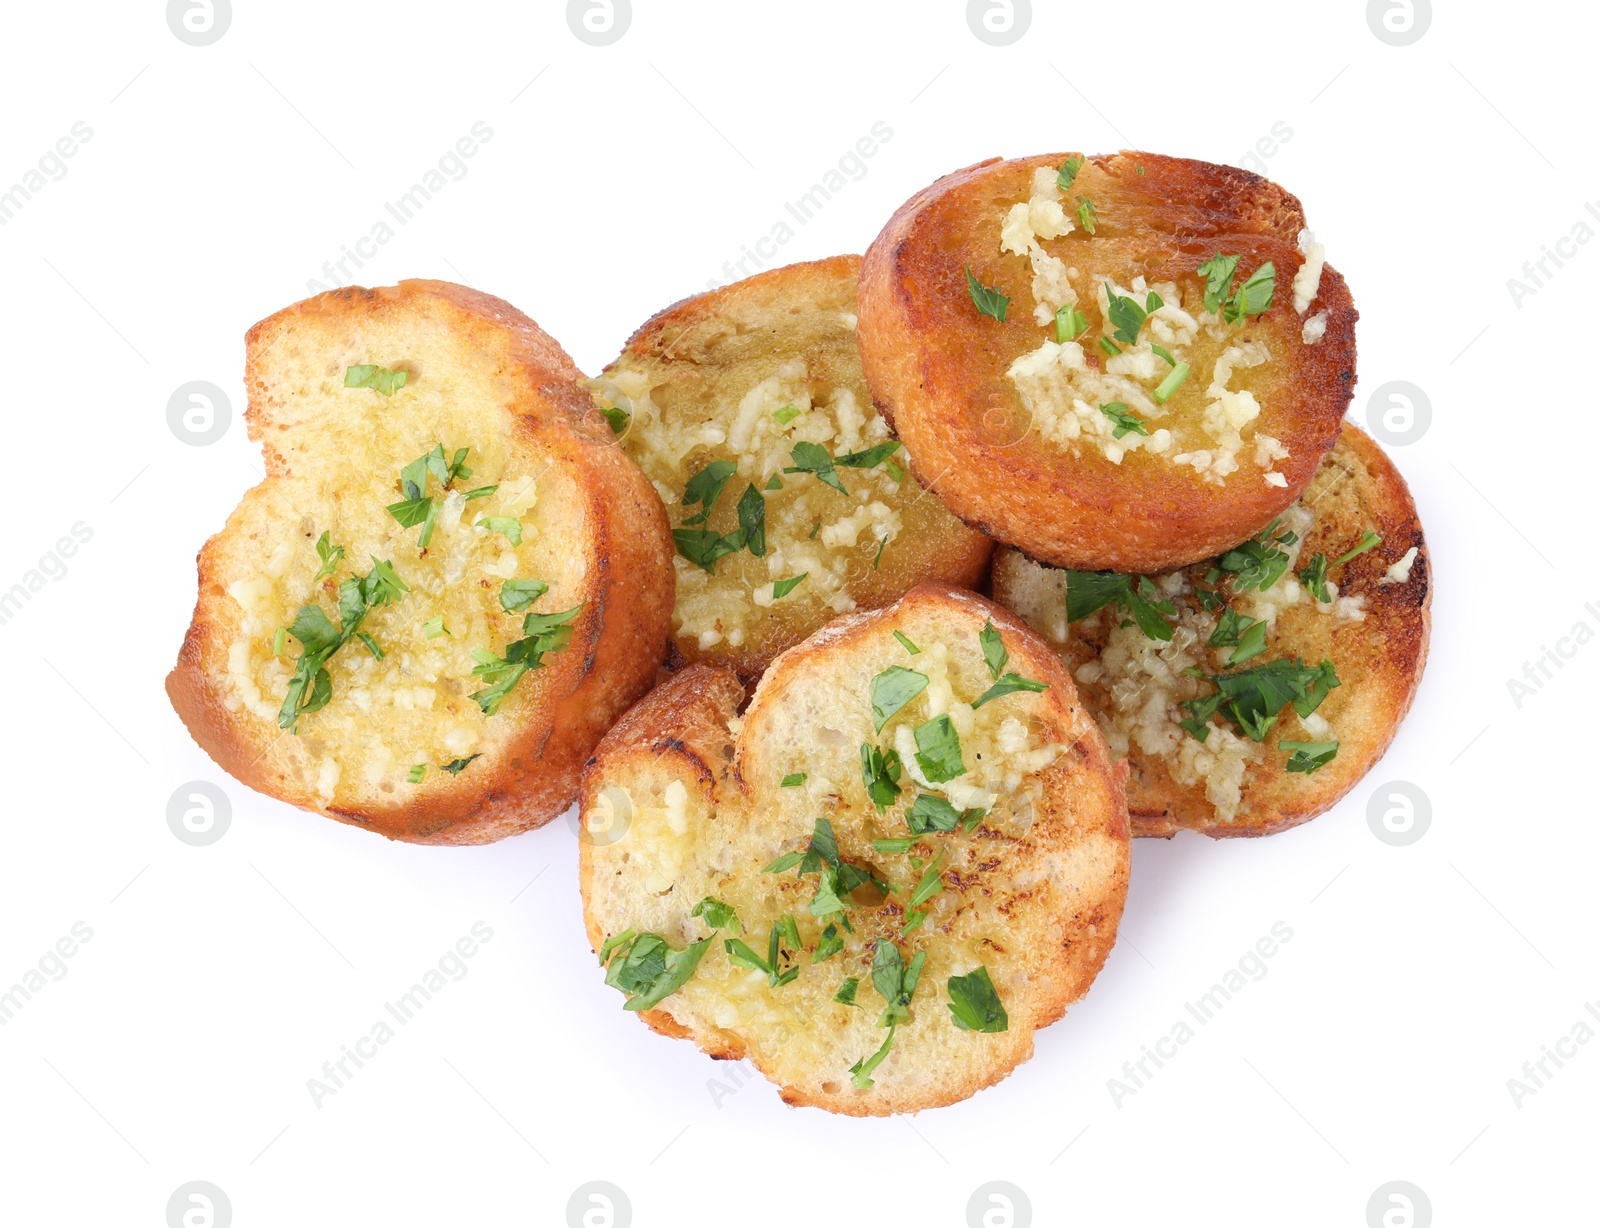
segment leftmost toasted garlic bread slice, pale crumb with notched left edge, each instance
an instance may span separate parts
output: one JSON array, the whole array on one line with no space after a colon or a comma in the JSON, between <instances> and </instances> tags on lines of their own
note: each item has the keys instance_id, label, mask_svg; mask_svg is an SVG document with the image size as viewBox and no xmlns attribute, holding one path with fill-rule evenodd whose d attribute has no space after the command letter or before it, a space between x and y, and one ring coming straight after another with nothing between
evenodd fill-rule
<instances>
[{"instance_id":1,"label":"leftmost toasted garlic bread slice, pale crumb with notched left edge","mask_svg":"<svg viewBox=\"0 0 1600 1228\"><path fill-rule=\"evenodd\" d=\"M200 552L166 680L222 768L418 843L571 803L672 606L661 502L578 379L525 315L443 281L336 289L250 329L267 478Z\"/></svg>"}]
</instances>

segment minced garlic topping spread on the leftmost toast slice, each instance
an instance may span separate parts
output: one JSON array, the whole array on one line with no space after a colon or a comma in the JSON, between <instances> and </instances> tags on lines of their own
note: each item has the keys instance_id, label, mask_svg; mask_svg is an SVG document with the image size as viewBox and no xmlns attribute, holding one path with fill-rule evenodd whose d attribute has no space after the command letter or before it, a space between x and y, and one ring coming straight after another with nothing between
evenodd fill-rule
<instances>
[{"instance_id":1,"label":"minced garlic topping spread on the leftmost toast slice","mask_svg":"<svg viewBox=\"0 0 1600 1228\"><path fill-rule=\"evenodd\" d=\"M386 448L381 432L366 441L366 451L350 441L344 446L358 472L398 472L397 456L406 456ZM491 750L499 740L498 731L514 728L512 713L536 702L544 686L538 672L528 675L507 697L501 715L486 716L470 699L485 686L472 676L477 665L472 651L501 652L517 638L517 619L504 612L496 596L509 579L542 579L552 585L538 603L539 611L562 609L552 604L555 600L571 604L582 582L582 563L563 560L563 544L538 529L555 515L550 508L562 504L563 488L554 478L536 483L525 473L504 473L499 449L474 448L469 462L474 476L467 484L482 481L496 489L469 505L461 489L442 494L437 484L430 486L440 510L427 550L418 547L416 528L402 528L389 515L379 492L344 500L326 520L306 521L309 528L299 540L282 542L259 574L227 588L240 608L240 619L238 633L229 644L226 704L275 728L301 656L293 638L285 638L283 651L274 652L277 628L291 627L306 604L318 606L325 617L338 622L336 585L370 571L374 558L392 561L406 585L402 596L374 606L362 622L382 659L363 641L350 640L325 667L331 700L320 712L299 716L298 737L288 748L302 756L293 761L323 803L349 793L349 788L339 790L341 780L357 790L384 793L414 788L408 772L416 764L427 766L432 779L440 779L440 764ZM286 507L285 518L291 512ZM504 534L480 524L485 516L522 521L522 544L512 547ZM346 558L333 577L314 585L310 576L320 560L312 532L318 528L330 529L333 544L346 548ZM440 630L429 635L427 625L434 620Z\"/></svg>"}]
</instances>

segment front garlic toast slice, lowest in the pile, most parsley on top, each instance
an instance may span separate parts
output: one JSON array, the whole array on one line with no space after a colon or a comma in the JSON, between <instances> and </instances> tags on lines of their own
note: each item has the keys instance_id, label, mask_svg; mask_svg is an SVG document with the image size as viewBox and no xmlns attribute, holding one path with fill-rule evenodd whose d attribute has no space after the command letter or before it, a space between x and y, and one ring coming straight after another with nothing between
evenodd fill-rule
<instances>
[{"instance_id":1,"label":"front garlic toast slice, lowest in the pile, most parsley on top","mask_svg":"<svg viewBox=\"0 0 1600 1228\"><path fill-rule=\"evenodd\" d=\"M742 694L683 670L584 774L584 921L624 1009L834 1113L1003 1078L1128 884L1123 775L1061 659L925 584L784 652L741 718Z\"/></svg>"}]
</instances>

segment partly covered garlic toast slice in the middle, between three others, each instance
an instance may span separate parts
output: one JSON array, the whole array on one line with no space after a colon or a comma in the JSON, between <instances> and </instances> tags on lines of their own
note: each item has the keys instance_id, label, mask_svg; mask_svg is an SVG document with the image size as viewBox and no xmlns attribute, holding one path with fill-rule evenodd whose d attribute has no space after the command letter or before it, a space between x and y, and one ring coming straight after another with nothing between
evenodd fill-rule
<instances>
[{"instance_id":1,"label":"partly covered garlic toast slice in the middle, between three others","mask_svg":"<svg viewBox=\"0 0 1600 1228\"><path fill-rule=\"evenodd\" d=\"M992 542L909 476L872 408L859 269L835 256L686 299L590 385L672 518L674 667L754 681L837 614L989 566Z\"/></svg>"}]
</instances>

